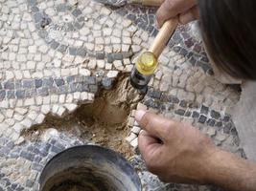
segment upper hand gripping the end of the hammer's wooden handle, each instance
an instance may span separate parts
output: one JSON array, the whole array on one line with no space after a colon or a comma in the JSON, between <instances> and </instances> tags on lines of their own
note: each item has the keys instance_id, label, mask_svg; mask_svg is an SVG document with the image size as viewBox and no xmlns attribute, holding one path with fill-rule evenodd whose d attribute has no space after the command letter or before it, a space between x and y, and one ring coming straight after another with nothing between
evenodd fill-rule
<instances>
[{"instance_id":1,"label":"upper hand gripping the end of the hammer's wooden handle","mask_svg":"<svg viewBox=\"0 0 256 191\"><path fill-rule=\"evenodd\" d=\"M158 26L177 15L180 24L198 19L197 0L165 0L156 12Z\"/></svg>"}]
</instances>

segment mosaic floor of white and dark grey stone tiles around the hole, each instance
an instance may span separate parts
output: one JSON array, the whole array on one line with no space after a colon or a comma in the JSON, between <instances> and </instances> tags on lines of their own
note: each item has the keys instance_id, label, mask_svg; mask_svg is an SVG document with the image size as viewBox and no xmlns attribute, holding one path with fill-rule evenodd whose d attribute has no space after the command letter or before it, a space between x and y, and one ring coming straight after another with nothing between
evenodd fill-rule
<instances>
[{"instance_id":1,"label":"mosaic floor of white and dark grey stone tiles around the hole","mask_svg":"<svg viewBox=\"0 0 256 191\"><path fill-rule=\"evenodd\" d=\"M43 136L35 127L49 116L61 120L75 113L128 74L133 58L157 33L154 12L90 0L0 0L0 190L38 190L49 159L70 146L91 143L58 131L56 123ZM214 78L195 26L176 30L137 107L192 123L218 146L245 157L229 115L240 92ZM126 136L136 147L132 113ZM31 136L24 136L30 130ZM139 155L130 160L145 191L219 190L164 184L145 169Z\"/></svg>"}]
</instances>

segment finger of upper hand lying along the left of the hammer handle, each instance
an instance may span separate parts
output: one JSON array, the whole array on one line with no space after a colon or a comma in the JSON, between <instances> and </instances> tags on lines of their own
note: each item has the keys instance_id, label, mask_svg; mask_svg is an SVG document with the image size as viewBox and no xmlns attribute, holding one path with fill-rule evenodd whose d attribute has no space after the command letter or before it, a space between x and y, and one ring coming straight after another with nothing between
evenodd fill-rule
<instances>
[{"instance_id":1,"label":"finger of upper hand lying along the left of the hammer handle","mask_svg":"<svg viewBox=\"0 0 256 191\"><path fill-rule=\"evenodd\" d=\"M156 12L158 26L177 14L188 11L197 4L196 0L165 0Z\"/></svg>"}]
</instances>

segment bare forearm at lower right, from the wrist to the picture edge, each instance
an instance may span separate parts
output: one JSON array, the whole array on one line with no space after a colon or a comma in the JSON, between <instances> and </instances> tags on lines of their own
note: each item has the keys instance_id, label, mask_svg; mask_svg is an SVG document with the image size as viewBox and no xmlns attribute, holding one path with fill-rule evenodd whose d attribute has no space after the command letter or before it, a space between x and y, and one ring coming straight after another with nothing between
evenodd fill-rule
<instances>
[{"instance_id":1,"label":"bare forearm at lower right, from the wrist to the picture edge","mask_svg":"<svg viewBox=\"0 0 256 191\"><path fill-rule=\"evenodd\" d=\"M207 165L209 182L232 191L256 191L256 164L219 150Z\"/></svg>"}]
</instances>

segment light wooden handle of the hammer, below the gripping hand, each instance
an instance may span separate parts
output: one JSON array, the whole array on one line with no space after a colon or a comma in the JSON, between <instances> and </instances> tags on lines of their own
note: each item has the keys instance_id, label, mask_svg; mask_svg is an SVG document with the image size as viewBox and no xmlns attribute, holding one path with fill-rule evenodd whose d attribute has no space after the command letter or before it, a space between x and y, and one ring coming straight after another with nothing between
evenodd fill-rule
<instances>
[{"instance_id":1,"label":"light wooden handle of the hammer, below the gripping hand","mask_svg":"<svg viewBox=\"0 0 256 191\"><path fill-rule=\"evenodd\" d=\"M161 27L160 31L157 33L149 50L151 53L155 55L156 58L158 58L159 55L164 51L169 39L175 32L177 24L177 18L172 18L166 21Z\"/></svg>"}]
</instances>

